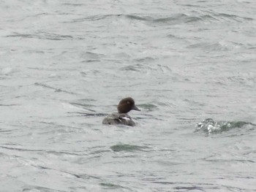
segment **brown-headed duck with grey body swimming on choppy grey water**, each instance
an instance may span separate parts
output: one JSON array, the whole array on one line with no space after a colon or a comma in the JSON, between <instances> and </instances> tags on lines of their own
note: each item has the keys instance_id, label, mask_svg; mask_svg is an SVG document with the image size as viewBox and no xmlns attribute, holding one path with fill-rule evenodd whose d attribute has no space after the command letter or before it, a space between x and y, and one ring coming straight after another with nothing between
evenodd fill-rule
<instances>
[{"instance_id":1,"label":"brown-headed duck with grey body swimming on choppy grey water","mask_svg":"<svg viewBox=\"0 0 256 192\"><path fill-rule=\"evenodd\" d=\"M135 106L135 101L131 97L121 99L117 106L118 112L114 112L108 115L103 121L103 124L108 125L125 125L125 126L135 126L132 118L127 114L130 110L140 111L138 107Z\"/></svg>"}]
</instances>

